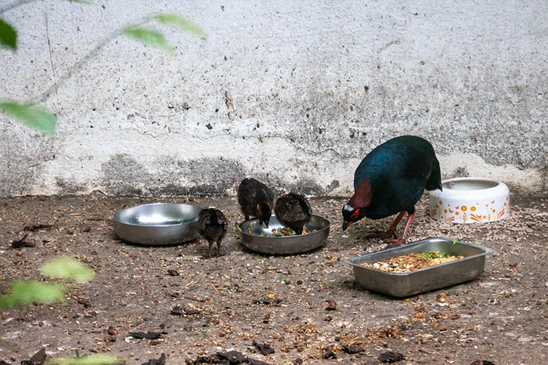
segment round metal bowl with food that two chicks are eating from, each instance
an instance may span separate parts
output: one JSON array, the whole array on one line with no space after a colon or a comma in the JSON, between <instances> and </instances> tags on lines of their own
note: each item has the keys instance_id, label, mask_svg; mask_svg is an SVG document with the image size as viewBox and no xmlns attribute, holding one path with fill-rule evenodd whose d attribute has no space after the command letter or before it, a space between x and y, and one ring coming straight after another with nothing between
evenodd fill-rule
<instances>
[{"instance_id":1,"label":"round metal bowl with food that two chicks are eating from","mask_svg":"<svg viewBox=\"0 0 548 365\"><path fill-rule=\"evenodd\" d=\"M273 237L273 229L284 227L275 215L270 217L268 228L261 225L258 219L246 220L238 227L244 246L270 255L292 255L311 251L322 246L330 234L330 221L318 215L312 215L310 221L304 225L310 233L297 236Z\"/></svg>"}]
</instances>

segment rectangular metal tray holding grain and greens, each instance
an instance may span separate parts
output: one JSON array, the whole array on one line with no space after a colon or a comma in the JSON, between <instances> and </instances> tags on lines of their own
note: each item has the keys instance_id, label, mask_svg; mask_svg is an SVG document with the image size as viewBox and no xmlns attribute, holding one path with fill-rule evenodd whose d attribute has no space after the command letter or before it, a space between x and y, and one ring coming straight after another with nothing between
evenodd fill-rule
<instances>
[{"instance_id":1,"label":"rectangular metal tray holding grain and greens","mask_svg":"<svg viewBox=\"0 0 548 365\"><path fill-rule=\"evenodd\" d=\"M360 265L361 263L377 263L387 258L424 251L441 251L449 255L462 255L464 258L411 272L385 272ZM403 298L475 279L483 272L485 255L490 255L493 252L491 248L464 241L429 238L354 257L348 263L353 266L355 281L360 286L371 291Z\"/></svg>"}]
</instances>

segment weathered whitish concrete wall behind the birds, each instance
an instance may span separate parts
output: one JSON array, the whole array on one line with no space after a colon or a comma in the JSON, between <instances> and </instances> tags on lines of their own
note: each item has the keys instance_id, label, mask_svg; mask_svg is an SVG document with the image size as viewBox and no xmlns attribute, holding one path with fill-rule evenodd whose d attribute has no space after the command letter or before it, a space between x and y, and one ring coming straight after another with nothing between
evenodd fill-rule
<instances>
[{"instance_id":1,"label":"weathered whitish concrete wall behind the birds","mask_svg":"<svg viewBox=\"0 0 548 365\"><path fill-rule=\"evenodd\" d=\"M230 194L245 175L344 195L400 134L431 140L443 178L547 190L547 1L93 3L1 3L20 43L0 98L58 129L0 116L0 196ZM207 39L146 22L169 55L116 36L157 11Z\"/></svg>"}]
</instances>

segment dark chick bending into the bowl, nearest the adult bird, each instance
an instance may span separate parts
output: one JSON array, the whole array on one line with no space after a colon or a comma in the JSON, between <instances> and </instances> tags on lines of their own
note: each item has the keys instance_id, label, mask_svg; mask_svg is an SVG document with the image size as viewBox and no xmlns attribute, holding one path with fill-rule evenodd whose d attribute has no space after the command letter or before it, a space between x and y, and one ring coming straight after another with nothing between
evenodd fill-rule
<instances>
[{"instance_id":1,"label":"dark chick bending into the bowl, nearest the adult bird","mask_svg":"<svg viewBox=\"0 0 548 365\"><path fill-rule=\"evenodd\" d=\"M278 198L274 213L280 223L294 230L296 234L302 234L304 225L312 216L312 208L305 197L290 192Z\"/></svg>"}]
</instances>

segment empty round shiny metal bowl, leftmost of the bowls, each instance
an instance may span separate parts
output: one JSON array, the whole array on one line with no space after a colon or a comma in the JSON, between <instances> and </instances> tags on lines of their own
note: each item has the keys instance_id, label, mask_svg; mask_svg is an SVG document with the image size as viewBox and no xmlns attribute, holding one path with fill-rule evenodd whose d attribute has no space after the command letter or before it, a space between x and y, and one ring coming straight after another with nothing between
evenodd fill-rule
<instances>
[{"instance_id":1,"label":"empty round shiny metal bowl, leftmost of the bowls","mask_svg":"<svg viewBox=\"0 0 548 365\"><path fill-rule=\"evenodd\" d=\"M143 204L112 215L115 233L133 244L171 245L197 239L199 206Z\"/></svg>"}]
</instances>

